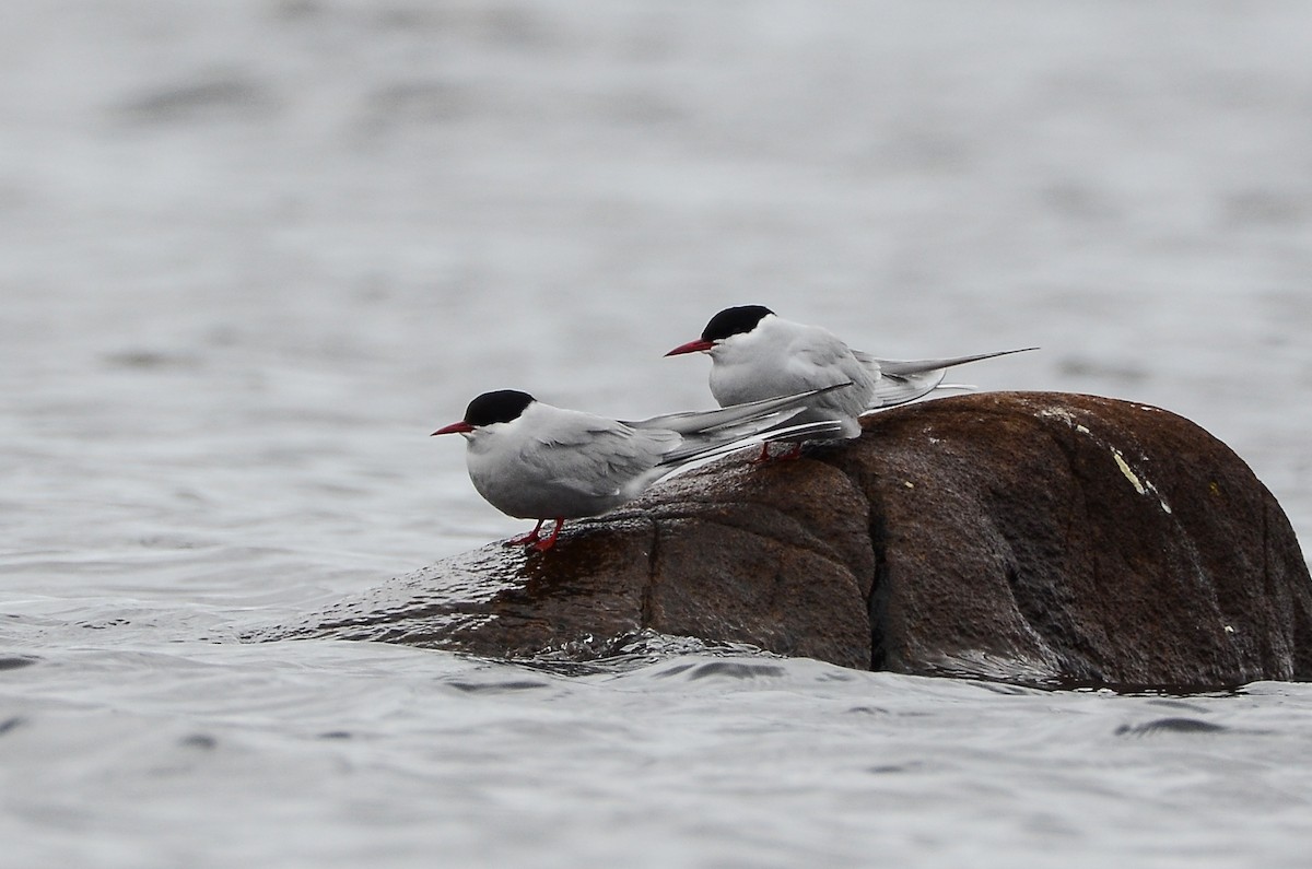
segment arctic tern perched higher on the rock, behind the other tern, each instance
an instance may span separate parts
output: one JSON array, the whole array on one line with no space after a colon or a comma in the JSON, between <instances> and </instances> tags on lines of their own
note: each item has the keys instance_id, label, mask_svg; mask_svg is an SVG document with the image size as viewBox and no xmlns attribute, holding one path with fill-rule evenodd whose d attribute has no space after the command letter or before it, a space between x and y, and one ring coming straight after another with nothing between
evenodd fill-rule
<instances>
[{"instance_id":1,"label":"arctic tern perched higher on the rock, behind the other tern","mask_svg":"<svg viewBox=\"0 0 1312 869\"><path fill-rule=\"evenodd\" d=\"M665 356L698 352L711 357L711 394L722 406L850 382L849 389L817 392L792 421L838 420L838 437L858 437L861 415L926 395L942 383L949 368L1023 350L880 360L851 349L819 326L792 323L761 305L745 305L724 308L711 318L698 340ZM800 449L800 444L795 442L795 448Z\"/></svg>"}]
</instances>

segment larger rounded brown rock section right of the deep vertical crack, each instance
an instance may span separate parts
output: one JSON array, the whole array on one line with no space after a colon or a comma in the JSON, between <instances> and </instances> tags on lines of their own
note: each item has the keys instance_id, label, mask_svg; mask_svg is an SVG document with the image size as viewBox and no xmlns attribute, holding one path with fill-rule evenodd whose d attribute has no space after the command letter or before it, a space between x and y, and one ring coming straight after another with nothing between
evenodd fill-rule
<instances>
[{"instance_id":1,"label":"larger rounded brown rock section right of the deep vertical crack","mask_svg":"<svg viewBox=\"0 0 1312 869\"><path fill-rule=\"evenodd\" d=\"M1312 582L1271 494L1166 411L983 394L827 450L875 524L876 668L1096 684L1312 676Z\"/></svg>"}]
</instances>

